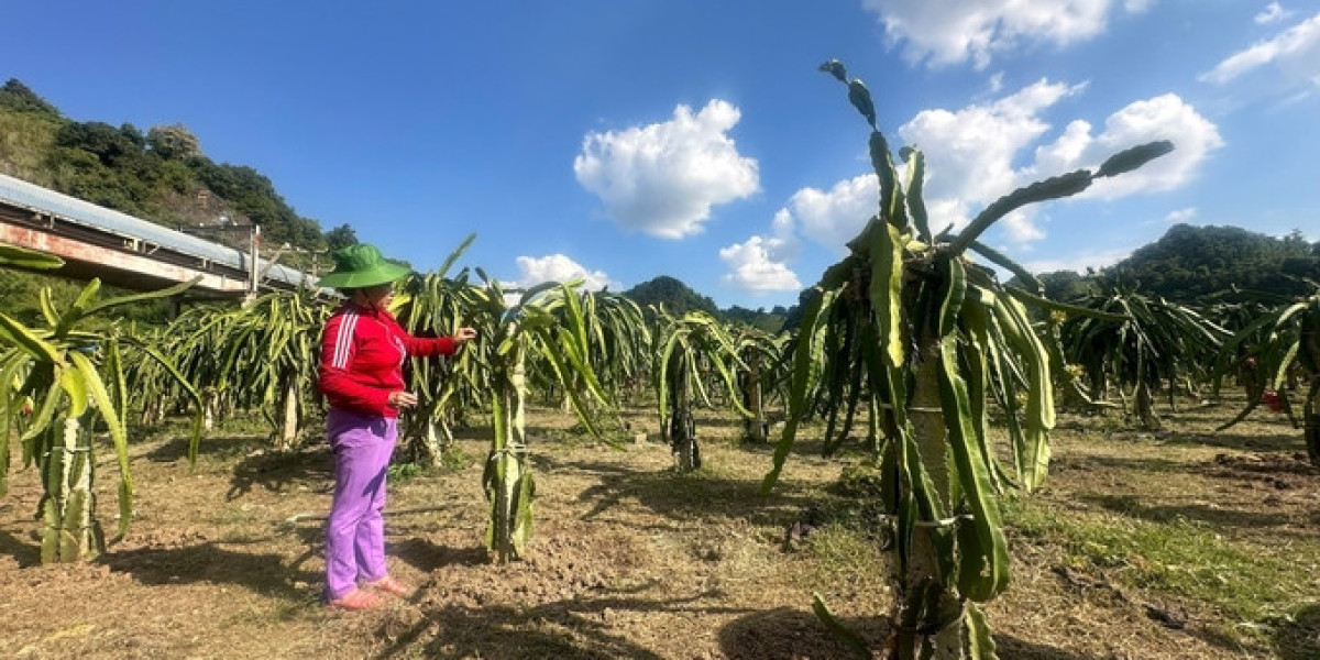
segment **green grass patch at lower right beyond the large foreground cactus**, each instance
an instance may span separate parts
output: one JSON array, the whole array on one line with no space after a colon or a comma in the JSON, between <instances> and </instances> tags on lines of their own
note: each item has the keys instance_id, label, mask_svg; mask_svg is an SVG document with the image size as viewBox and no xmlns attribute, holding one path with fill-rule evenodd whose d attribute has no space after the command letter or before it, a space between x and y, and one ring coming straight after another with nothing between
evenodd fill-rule
<instances>
[{"instance_id":1,"label":"green grass patch at lower right beyond the large foreground cactus","mask_svg":"<svg viewBox=\"0 0 1320 660\"><path fill-rule=\"evenodd\" d=\"M1185 519L1060 512L1039 500L1006 502L1005 510L1010 529L1063 548L1072 568L1200 601L1238 622L1287 616L1316 595L1312 568L1320 565L1320 545L1315 543L1295 541L1290 553L1276 554Z\"/></svg>"}]
</instances>

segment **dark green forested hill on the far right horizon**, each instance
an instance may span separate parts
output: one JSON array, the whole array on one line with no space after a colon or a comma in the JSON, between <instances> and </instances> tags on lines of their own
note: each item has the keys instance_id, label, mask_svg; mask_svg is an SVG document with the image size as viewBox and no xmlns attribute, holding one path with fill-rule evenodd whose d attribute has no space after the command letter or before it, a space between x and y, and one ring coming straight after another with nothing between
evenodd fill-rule
<instances>
[{"instance_id":1,"label":"dark green forested hill on the far right horizon","mask_svg":"<svg viewBox=\"0 0 1320 660\"><path fill-rule=\"evenodd\" d=\"M1155 243L1098 273L1060 271L1041 276L1045 293L1068 300L1088 285L1137 286L1146 294L1195 304L1220 292L1250 289L1300 296L1320 282L1320 243L1307 243L1300 231L1284 238L1241 227L1175 224Z\"/></svg>"}]
</instances>

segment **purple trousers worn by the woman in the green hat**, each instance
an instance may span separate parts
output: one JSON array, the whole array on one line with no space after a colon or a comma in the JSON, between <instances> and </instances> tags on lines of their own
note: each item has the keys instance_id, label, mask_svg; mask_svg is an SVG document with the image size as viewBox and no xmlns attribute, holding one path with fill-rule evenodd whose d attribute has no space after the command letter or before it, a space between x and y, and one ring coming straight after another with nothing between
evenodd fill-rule
<instances>
[{"instance_id":1,"label":"purple trousers worn by the woman in the green hat","mask_svg":"<svg viewBox=\"0 0 1320 660\"><path fill-rule=\"evenodd\" d=\"M326 597L385 577L385 467L399 420L331 408L326 437L334 451L334 502L326 521Z\"/></svg>"}]
</instances>

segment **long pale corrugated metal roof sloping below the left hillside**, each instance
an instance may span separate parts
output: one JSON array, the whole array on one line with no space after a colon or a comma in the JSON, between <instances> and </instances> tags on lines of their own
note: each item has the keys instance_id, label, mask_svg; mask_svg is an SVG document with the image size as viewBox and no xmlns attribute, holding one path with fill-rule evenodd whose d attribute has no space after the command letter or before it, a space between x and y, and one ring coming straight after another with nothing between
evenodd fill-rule
<instances>
[{"instance_id":1,"label":"long pale corrugated metal roof sloping below the left hillside","mask_svg":"<svg viewBox=\"0 0 1320 660\"><path fill-rule=\"evenodd\" d=\"M242 249L190 236L181 231L133 218L112 209L96 206L91 202L84 202L5 174L0 174L0 202L54 215L62 220L83 224L127 239L160 246L182 255L206 259L215 264L249 271L251 259ZM265 265L265 260L257 260L257 268L264 268ZM279 264L271 268L267 279L280 280L293 286L305 281L314 281L310 275Z\"/></svg>"}]
</instances>

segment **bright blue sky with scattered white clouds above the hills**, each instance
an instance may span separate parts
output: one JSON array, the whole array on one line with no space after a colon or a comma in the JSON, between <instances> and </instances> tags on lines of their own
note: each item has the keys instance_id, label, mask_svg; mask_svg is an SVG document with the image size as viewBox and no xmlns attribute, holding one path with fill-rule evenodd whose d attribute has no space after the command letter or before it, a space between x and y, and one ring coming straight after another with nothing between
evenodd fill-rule
<instances>
[{"instance_id":1,"label":"bright blue sky with scattered white clouds above the hills","mask_svg":"<svg viewBox=\"0 0 1320 660\"><path fill-rule=\"evenodd\" d=\"M932 226L1133 144L1176 150L986 236L1038 271L1173 222L1320 240L1320 0L7 0L0 78L183 124L304 216L532 284L659 275L791 305L874 213L866 81Z\"/></svg>"}]
</instances>

